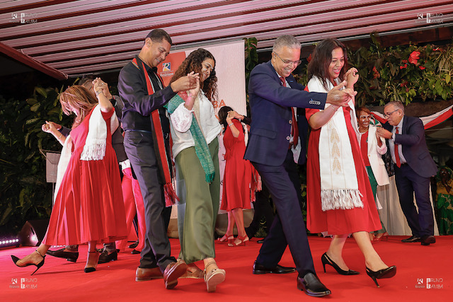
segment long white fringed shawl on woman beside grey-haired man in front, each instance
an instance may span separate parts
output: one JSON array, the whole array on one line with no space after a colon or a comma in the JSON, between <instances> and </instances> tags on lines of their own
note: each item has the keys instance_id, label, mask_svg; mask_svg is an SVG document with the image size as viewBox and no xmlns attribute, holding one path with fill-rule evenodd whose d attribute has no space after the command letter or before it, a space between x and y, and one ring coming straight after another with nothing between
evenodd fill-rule
<instances>
[{"instance_id":1,"label":"long white fringed shawl on woman beside grey-haired man in front","mask_svg":"<svg viewBox=\"0 0 453 302\"><path fill-rule=\"evenodd\" d=\"M338 79L337 79L338 80ZM338 83L338 81L337 81ZM327 93L328 90L317 77L307 84L310 92ZM354 103L348 103L352 126L357 128ZM326 110L330 104L326 104ZM343 110L336 110L331 120L321 127L319 137L319 167L321 175L321 205L323 211L332 209L363 208L362 194L357 183L357 173L352 156Z\"/></svg>"}]
</instances>

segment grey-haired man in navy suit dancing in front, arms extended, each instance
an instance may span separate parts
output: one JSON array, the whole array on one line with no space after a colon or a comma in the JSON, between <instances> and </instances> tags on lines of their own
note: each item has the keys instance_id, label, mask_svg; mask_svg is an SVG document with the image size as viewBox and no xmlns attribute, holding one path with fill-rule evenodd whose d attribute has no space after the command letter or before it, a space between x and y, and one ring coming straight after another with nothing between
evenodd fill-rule
<instances>
[{"instance_id":1,"label":"grey-haired man in navy suit dancing in front, arms extended","mask_svg":"<svg viewBox=\"0 0 453 302\"><path fill-rule=\"evenodd\" d=\"M344 83L329 93L304 91L304 86L291 75L300 64L300 47L295 37L278 37L272 59L256 66L248 83L252 122L244 158L260 173L277 208L277 216L253 265L253 274L294 272L294 268L278 265L288 245L299 273L297 288L309 296L326 296L331 291L316 276L295 188L300 187L300 180L290 148L294 140L292 108L324 109L326 103L346 105L355 92L340 91ZM304 115L299 115L297 124L303 134L307 124L302 119L305 120Z\"/></svg>"}]
</instances>

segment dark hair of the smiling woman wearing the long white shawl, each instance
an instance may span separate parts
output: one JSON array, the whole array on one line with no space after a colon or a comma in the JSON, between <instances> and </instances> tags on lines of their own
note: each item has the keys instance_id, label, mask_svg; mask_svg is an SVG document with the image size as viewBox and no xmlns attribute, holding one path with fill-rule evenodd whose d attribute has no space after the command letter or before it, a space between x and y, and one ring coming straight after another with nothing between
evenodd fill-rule
<instances>
[{"instance_id":1,"label":"dark hair of the smiling woman wearing the long white shawl","mask_svg":"<svg viewBox=\"0 0 453 302\"><path fill-rule=\"evenodd\" d=\"M338 47L343 50L343 54L345 56L345 65L340 71L340 76L338 76L340 80L343 81L343 77L345 76L345 69L348 68L348 54L346 53L345 45L343 45L343 43L338 41L337 39L326 39L319 42L319 44L316 45L311 56L311 61L309 62L309 79L311 79L313 76L317 76L319 79L321 79L326 90L328 89L327 81L330 80L330 77L328 75L328 66L332 61L333 50Z\"/></svg>"}]
</instances>

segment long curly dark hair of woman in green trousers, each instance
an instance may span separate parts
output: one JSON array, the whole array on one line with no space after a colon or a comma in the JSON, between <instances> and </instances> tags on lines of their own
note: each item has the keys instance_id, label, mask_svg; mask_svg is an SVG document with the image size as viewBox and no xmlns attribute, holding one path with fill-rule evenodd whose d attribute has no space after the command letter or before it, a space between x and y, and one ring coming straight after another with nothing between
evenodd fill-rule
<instances>
[{"instance_id":1,"label":"long curly dark hair of woman in green trousers","mask_svg":"<svg viewBox=\"0 0 453 302\"><path fill-rule=\"evenodd\" d=\"M170 83L173 83L177 79L190 74L190 72L195 71L195 74L202 74L202 62L205 59L214 60L214 68L211 71L209 78L200 83L200 89L205 93L208 100L211 102L217 99L217 76L215 76L215 59L214 56L204 50L199 48L193 52L190 52L187 58L180 64L178 70L171 78Z\"/></svg>"}]
</instances>

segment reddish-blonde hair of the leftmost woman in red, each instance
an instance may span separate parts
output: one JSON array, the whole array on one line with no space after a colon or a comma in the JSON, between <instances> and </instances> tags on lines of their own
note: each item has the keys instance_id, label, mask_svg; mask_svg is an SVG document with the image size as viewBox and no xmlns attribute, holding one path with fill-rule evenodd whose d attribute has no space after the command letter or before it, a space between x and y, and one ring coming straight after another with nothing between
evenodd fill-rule
<instances>
[{"instance_id":1,"label":"reddish-blonde hair of the leftmost woman in red","mask_svg":"<svg viewBox=\"0 0 453 302\"><path fill-rule=\"evenodd\" d=\"M79 126L84 121L94 106L98 105L98 100L84 86L70 86L59 95L59 103L65 115L71 115L75 110L76 118L72 129Z\"/></svg>"}]
</instances>

